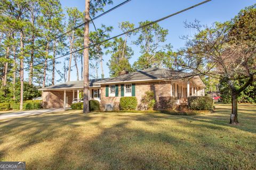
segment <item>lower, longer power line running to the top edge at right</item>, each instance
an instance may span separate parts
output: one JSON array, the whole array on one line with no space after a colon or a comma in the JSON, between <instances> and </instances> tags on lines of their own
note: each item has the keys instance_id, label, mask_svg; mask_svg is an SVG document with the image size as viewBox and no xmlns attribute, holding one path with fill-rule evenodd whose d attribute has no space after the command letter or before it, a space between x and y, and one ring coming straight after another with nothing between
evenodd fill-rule
<instances>
[{"instance_id":1,"label":"lower, longer power line running to the top edge at right","mask_svg":"<svg viewBox=\"0 0 256 170\"><path fill-rule=\"evenodd\" d=\"M167 18L170 18L171 16L174 16L174 15L180 14L180 13L185 12L185 11L188 11L188 10L190 10L191 8L197 7L197 6L199 6L199 5L205 4L205 3L210 2L210 1L212 1L212 0L206 0L206 1L203 1L203 2L198 3L198 4L196 4L196 5L193 5L193 6L190 6L190 7L188 7L188 8L185 8L184 10L181 10L181 11L175 12L175 13L170 14L170 15L167 15L167 16L165 16L165 17L163 17L163 18L161 18L161 19L158 19L158 20L156 20L156 21L149 22L148 24L141 25L140 27L137 27L137 28L134 28L134 29L132 29L132 30L129 30L129 31L123 32L123 33L121 33L121 34L119 34L119 35L117 35L117 36L110 37L110 38L108 38L108 39L106 39L106 40L100 41L99 43L95 43L95 44L92 44L92 45L90 45L90 46L87 46L87 47L83 47L83 48L77 49L77 50L75 50L74 52L70 52L70 53L68 53L68 54L65 54L65 55L62 55L62 56L56 57L56 58L54 58L54 60L57 60L58 58L65 57L65 56L67 56L67 55L70 55L70 54L73 54L73 53L76 53L76 52L79 52L79 51L81 51L81 50L83 50L83 49L85 49L85 48L90 48L90 47L93 47L93 46L100 45L100 44L105 43L106 41L109 41L109 40L111 40L111 39L114 39L114 38L117 38L117 37L123 36L123 35L125 35L126 33L130 33L130 32L133 32L133 31L139 30L139 29L141 29L141 28L148 27L149 25L152 25L152 24L154 24L154 23L157 23L157 22L163 21L163 20L165 20L165 19L167 19ZM35 65L33 65L32 67L37 66L37 65L40 65L40 64L44 64L44 63L46 63L46 62L50 62L50 61L53 61L53 59L51 59L51 60L49 60L49 61L42 62L42 63L35 64ZM29 69L30 67L31 67L31 66L28 66L28 67L24 68L23 70L25 70L25 69ZM9 72L9 73L17 72L17 71L20 71L20 70L22 70L22 69L15 70L15 71L12 71L12 72ZM9 74L9 73L6 73L6 74Z\"/></svg>"}]
</instances>

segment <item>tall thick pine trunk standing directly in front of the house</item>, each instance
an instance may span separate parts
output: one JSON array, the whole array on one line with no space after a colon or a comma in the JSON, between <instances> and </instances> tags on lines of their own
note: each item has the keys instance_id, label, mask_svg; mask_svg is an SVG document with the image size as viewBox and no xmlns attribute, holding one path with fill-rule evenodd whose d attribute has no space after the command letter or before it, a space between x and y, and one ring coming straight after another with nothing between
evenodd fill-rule
<instances>
[{"instance_id":1,"label":"tall thick pine trunk standing directly in front of the house","mask_svg":"<svg viewBox=\"0 0 256 170\"><path fill-rule=\"evenodd\" d=\"M90 20L90 0L85 0L85 22ZM84 26L84 47L89 46L89 22ZM84 49L84 108L83 113L89 113L89 48Z\"/></svg>"}]
</instances>

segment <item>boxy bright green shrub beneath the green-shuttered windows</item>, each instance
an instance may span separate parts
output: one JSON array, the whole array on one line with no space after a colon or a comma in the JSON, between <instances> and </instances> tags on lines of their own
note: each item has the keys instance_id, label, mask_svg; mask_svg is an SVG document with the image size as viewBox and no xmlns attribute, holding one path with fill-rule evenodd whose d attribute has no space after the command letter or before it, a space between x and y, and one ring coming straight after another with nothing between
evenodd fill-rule
<instances>
[{"instance_id":1,"label":"boxy bright green shrub beneath the green-shuttered windows","mask_svg":"<svg viewBox=\"0 0 256 170\"><path fill-rule=\"evenodd\" d=\"M136 97L121 97L120 98L120 109L121 110L135 110L137 108Z\"/></svg>"}]
</instances>

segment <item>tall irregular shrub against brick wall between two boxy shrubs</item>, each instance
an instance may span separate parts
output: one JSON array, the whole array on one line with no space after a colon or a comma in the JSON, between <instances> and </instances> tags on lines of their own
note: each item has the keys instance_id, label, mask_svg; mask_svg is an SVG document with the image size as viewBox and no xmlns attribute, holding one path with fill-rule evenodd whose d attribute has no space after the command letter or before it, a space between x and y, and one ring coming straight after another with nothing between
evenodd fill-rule
<instances>
[{"instance_id":1,"label":"tall irregular shrub against brick wall between two boxy shrubs","mask_svg":"<svg viewBox=\"0 0 256 170\"><path fill-rule=\"evenodd\" d=\"M153 110L156 104L154 99L154 91L146 91L145 95L141 98L141 104L139 105L140 110Z\"/></svg>"}]
</instances>

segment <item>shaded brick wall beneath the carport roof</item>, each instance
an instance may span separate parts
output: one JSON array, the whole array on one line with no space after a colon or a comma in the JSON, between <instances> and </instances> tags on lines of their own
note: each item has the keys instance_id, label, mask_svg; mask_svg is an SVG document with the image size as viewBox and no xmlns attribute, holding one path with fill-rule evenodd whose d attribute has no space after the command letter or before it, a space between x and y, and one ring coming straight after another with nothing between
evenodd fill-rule
<instances>
[{"instance_id":1,"label":"shaded brick wall beneath the carport roof","mask_svg":"<svg viewBox=\"0 0 256 170\"><path fill-rule=\"evenodd\" d=\"M75 98L77 92L75 91ZM73 91L66 91L68 97L68 105L70 107L73 101ZM44 91L43 92L43 108L61 108L63 107L64 91Z\"/></svg>"}]
</instances>

